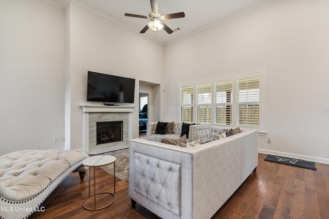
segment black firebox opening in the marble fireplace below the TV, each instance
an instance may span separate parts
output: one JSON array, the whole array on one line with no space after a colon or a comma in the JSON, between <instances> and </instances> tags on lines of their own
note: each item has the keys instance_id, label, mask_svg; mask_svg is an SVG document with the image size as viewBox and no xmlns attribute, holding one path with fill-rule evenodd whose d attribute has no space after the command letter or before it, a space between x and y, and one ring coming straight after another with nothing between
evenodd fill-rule
<instances>
[{"instance_id":1,"label":"black firebox opening in the marble fireplace below the TV","mask_svg":"<svg viewBox=\"0 0 329 219\"><path fill-rule=\"evenodd\" d=\"M97 145L123 141L123 121L97 122Z\"/></svg>"}]
</instances>

